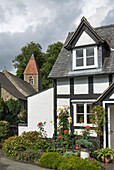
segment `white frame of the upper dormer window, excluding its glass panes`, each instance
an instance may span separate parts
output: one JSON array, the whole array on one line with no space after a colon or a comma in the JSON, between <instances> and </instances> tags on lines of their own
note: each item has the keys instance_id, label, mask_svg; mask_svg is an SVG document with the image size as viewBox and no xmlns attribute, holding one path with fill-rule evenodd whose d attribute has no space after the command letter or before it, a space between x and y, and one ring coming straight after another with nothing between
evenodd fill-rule
<instances>
[{"instance_id":1,"label":"white frame of the upper dormer window, excluding its glass panes","mask_svg":"<svg viewBox=\"0 0 114 170\"><path fill-rule=\"evenodd\" d=\"M79 70L79 69L89 69L89 68L97 68L98 67L98 55L97 55L97 46L90 46L94 48L94 65L86 65L86 49L89 47L84 48L76 48L73 50L73 70ZM83 66L76 67L76 50L83 49Z\"/></svg>"}]
</instances>

